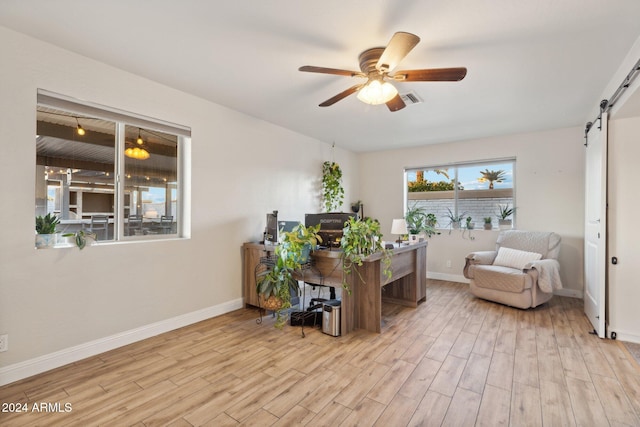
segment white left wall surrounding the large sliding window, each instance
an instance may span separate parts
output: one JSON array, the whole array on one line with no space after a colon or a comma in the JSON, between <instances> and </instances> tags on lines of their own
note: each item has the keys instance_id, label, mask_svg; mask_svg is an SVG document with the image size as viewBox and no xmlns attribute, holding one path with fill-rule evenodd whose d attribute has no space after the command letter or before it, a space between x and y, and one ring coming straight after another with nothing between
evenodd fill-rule
<instances>
[{"instance_id":1,"label":"white left wall surrounding the large sliding window","mask_svg":"<svg viewBox=\"0 0 640 427\"><path fill-rule=\"evenodd\" d=\"M239 308L242 243L274 209L320 211L323 161L355 197L358 164L339 148L2 27L0 58L0 385ZM191 127L192 238L35 250L38 88Z\"/></svg>"}]
</instances>

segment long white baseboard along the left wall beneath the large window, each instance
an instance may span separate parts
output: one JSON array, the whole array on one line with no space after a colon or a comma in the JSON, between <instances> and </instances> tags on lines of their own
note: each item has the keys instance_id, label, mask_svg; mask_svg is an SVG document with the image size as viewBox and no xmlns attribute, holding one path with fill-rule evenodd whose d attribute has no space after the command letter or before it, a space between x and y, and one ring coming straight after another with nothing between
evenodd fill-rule
<instances>
[{"instance_id":1,"label":"long white baseboard along the left wall beneath the large window","mask_svg":"<svg viewBox=\"0 0 640 427\"><path fill-rule=\"evenodd\" d=\"M141 326L129 331L120 332L109 337L100 338L74 347L65 348L54 353L45 354L24 362L0 368L0 386L59 368L105 351L113 350L137 341L201 322L221 314L229 313L243 307L242 298L223 304L203 308L191 313L182 314L171 319Z\"/></svg>"}]
</instances>

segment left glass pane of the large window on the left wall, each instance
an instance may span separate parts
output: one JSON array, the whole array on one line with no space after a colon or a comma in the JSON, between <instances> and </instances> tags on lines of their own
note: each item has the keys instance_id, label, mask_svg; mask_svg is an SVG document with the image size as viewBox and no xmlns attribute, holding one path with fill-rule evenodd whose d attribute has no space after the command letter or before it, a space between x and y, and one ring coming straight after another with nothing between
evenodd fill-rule
<instances>
[{"instance_id":1,"label":"left glass pane of the large window on the left wall","mask_svg":"<svg viewBox=\"0 0 640 427\"><path fill-rule=\"evenodd\" d=\"M55 214L61 234L113 240L115 144L114 122L38 106L36 216Z\"/></svg>"}]
</instances>

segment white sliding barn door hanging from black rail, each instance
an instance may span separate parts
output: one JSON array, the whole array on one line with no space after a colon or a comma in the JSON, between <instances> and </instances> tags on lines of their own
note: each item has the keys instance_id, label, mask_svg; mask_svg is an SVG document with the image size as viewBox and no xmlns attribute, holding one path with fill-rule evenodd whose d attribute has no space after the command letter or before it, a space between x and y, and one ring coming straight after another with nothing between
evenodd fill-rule
<instances>
[{"instance_id":1,"label":"white sliding barn door hanging from black rail","mask_svg":"<svg viewBox=\"0 0 640 427\"><path fill-rule=\"evenodd\" d=\"M587 134L584 229L584 312L604 338L607 266L607 113Z\"/></svg>"}]
</instances>

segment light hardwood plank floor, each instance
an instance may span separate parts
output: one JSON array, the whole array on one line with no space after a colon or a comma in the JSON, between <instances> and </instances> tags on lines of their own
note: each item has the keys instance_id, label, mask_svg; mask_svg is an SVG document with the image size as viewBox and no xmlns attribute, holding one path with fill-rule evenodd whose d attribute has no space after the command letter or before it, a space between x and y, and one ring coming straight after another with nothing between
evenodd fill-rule
<instances>
[{"instance_id":1,"label":"light hardwood plank floor","mask_svg":"<svg viewBox=\"0 0 640 427\"><path fill-rule=\"evenodd\" d=\"M256 324L238 310L0 388L24 426L639 426L640 368L582 300L532 310L428 281L382 334ZM70 404L69 412L32 412Z\"/></svg>"}]
</instances>

